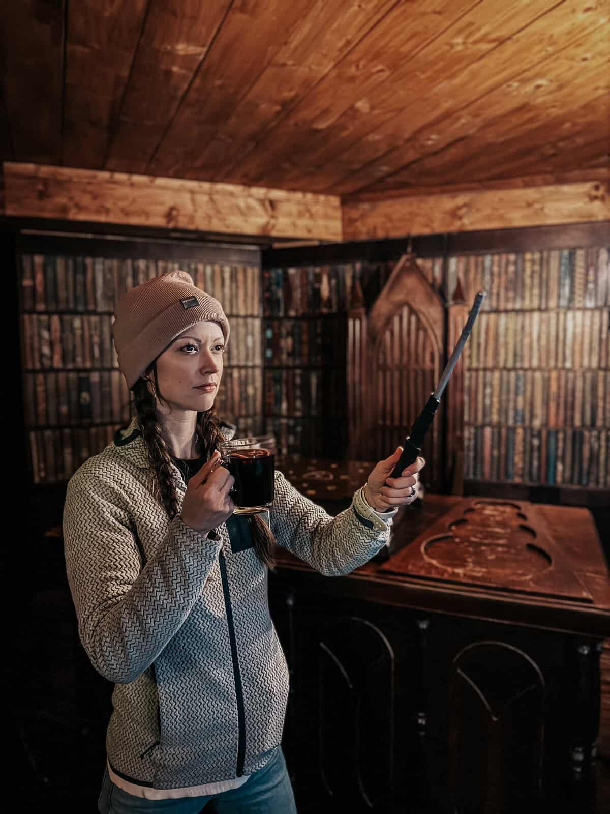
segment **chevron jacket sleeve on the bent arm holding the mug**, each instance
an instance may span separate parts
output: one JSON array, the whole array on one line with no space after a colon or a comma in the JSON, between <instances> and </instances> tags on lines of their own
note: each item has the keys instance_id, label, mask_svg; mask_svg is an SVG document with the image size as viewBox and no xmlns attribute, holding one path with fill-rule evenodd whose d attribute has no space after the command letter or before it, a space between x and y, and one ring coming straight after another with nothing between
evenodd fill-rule
<instances>
[{"instance_id":1,"label":"chevron jacket sleeve on the bent arm holding the mug","mask_svg":"<svg viewBox=\"0 0 610 814\"><path fill-rule=\"evenodd\" d=\"M68 483L63 540L82 645L104 678L133 681L190 614L220 542L195 532L177 515L142 567L120 487L82 470Z\"/></svg>"}]
</instances>

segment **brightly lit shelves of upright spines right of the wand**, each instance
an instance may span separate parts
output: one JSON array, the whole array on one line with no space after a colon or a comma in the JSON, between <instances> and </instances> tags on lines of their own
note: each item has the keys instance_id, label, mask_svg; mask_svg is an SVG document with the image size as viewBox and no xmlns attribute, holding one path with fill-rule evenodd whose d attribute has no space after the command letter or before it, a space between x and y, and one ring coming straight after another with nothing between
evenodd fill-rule
<instances>
[{"instance_id":1,"label":"brightly lit shelves of upright spines right of the wand","mask_svg":"<svg viewBox=\"0 0 610 814\"><path fill-rule=\"evenodd\" d=\"M589 247L457 258L487 287L464 348L464 478L610 487L610 264Z\"/></svg>"}]
</instances>

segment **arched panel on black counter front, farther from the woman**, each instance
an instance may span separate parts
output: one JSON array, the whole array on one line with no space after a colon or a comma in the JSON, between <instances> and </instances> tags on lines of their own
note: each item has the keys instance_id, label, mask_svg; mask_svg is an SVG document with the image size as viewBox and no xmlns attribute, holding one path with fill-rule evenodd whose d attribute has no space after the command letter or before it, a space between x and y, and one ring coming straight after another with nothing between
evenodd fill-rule
<instances>
[{"instance_id":1,"label":"arched panel on black counter front, farther from the woman","mask_svg":"<svg viewBox=\"0 0 610 814\"><path fill-rule=\"evenodd\" d=\"M523 650L479 641L453 659L449 779L456 814L527 807L542 793L545 681Z\"/></svg>"}]
</instances>

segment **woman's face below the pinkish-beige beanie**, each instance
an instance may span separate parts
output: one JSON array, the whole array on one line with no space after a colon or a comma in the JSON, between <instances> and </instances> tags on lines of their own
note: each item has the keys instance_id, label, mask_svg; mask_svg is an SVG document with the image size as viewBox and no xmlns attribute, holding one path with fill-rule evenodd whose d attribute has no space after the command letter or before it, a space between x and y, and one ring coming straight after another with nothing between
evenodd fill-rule
<instances>
[{"instance_id":1,"label":"woman's face below the pinkish-beige beanie","mask_svg":"<svg viewBox=\"0 0 610 814\"><path fill-rule=\"evenodd\" d=\"M159 412L211 408L222 376L224 337L217 322L187 328L157 359L157 380L164 403Z\"/></svg>"}]
</instances>

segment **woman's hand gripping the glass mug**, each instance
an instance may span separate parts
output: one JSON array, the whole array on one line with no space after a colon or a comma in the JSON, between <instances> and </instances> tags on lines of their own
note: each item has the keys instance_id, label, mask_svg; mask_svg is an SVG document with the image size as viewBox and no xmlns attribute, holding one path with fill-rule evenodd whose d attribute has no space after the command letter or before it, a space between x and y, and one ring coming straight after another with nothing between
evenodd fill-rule
<instances>
[{"instance_id":1,"label":"woman's hand gripping the glass mug","mask_svg":"<svg viewBox=\"0 0 610 814\"><path fill-rule=\"evenodd\" d=\"M210 460L186 484L181 519L195 532L202 534L224 523L235 508L229 497L235 479L229 470L218 465L219 461L220 452L216 449Z\"/></svg>"}]
</instances>

